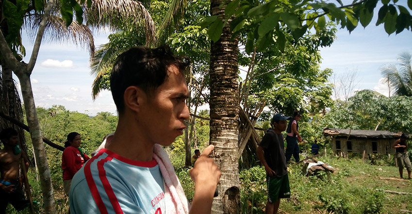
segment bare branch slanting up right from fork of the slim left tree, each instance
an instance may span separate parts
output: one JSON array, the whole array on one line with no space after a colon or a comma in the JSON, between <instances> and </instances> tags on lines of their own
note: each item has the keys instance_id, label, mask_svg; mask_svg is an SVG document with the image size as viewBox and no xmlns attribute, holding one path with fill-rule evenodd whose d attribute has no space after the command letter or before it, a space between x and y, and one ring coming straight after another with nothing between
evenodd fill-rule
<instances>
[{"instance_id":1,"label":"bare branch slanting up right from fork of the slim left tree","mask_svg":"<svg viewBox=\"0 0 412 214\"><path fill-rule=\"evenodd\" d=\"M43 14L42 21L40 22L39 30L37 31L36 40L33 45L32 56L30 57L30 61L27 66L27 71L29 72L29 75L32 74L34 65L36 64L37 56L39 55L40 44L42 43L44 30L46 29L46 24L47 24L48 18L50 17L50 12L51 12L51 8L53 7L53 4L54 4L54 0L48 1L47 7Z\"/></svg>"}]
</instances>

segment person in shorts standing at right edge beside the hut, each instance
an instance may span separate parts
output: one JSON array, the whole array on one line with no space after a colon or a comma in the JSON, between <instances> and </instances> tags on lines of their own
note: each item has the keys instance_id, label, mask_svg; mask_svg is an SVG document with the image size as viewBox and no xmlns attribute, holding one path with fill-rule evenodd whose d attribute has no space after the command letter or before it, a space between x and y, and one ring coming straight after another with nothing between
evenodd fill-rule
<instances>
[{"instance_id":1,"label":"person in shorts standing at right edge beside the hut","mask_svg":"<svg viewBox=\"0 0 412 214\"><path fill-rule=\"evenodd\" d=\"M400 178L403 178L403 165L405 164L406 170L408 171L408 179L411 179L412 165L411 161L409 160L408 152L406 151L406 148L408 147L406 139L408 138L408 134L402 133L400 139L397 139L395 141L394 148L396 149L396 161L399 167Z\"/></svg>"}]
</instances>

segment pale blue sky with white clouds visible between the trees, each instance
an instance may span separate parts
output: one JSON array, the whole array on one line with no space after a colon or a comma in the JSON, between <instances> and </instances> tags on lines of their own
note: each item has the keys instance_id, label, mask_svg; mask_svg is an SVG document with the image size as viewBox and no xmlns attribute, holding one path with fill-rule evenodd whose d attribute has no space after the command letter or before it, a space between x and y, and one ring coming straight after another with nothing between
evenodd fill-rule
<instances>
[{"instance_id":1,"label":"pale blue sky with white clouds visible between the trees","mask_svg":"<svg viewBox=\"0 0 412 214\"><path fill-rule=\"evenodd\" d=\"M333 69L338 78L347 78L350 72L357 70L355 90L372 89L387 94L387 86L380 84L379 68L396 63L397 55L404 51L412 53L412 32L404 30L388 36L383 25L376 27L375 22L372 21L366 29L359 26L351 34L346 29L338 29L337 40L332 46L320 50L321 68ZM107 32L95 35L96 47L107 41ZM27 52L23 60L27 62L32 43L25 35L23 44ZM45 108L63 105L68 110L89 115L98 112L115 114L110 92L103 91L95 101L92 100L93 79L86 49L73 43L43 42L32 72L35 104Z\"/></svg>"}]
</instances>

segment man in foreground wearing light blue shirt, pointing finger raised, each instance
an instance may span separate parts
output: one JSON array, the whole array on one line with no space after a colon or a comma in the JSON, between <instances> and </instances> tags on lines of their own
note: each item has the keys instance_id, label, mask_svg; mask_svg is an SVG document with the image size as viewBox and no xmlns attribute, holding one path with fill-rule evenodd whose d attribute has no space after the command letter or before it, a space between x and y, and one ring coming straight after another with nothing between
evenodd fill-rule
<instances>
[{"instance_id":1,"label":"man in foreground wearing light blue shirt, pointing finger raised","mask_svg":"<svg viewBox=\"0 0 412 214\"><path fill-rule=\"evenodd\" d=\"M105 148L72 180L72 213L189 213L188 201L162 146L183 134L190 112L185 63L169 48L131 48L110 77L119 122ZM209 145L190 170L190 213L209 214L221 172Z\"/></svg>"}]
</instances>

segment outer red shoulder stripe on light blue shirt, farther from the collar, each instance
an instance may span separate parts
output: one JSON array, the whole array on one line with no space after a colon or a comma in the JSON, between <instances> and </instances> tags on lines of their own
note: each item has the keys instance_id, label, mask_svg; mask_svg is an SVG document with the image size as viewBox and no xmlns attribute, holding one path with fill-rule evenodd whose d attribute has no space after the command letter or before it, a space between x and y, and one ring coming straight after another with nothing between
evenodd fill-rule
<instances>
[{"instance_id":1,"label":"outer red shoulder stripe on light blue shirt, farther from the collar","mask_svg":"<svg viewBox=\"0 0 412 214\"><path fill-rule=\"evenodd\" d=\"M93 179L92 171L90 170L90 164L93 161L95 161L95 159L100 157L102 154L103 154L102 152L99 152L94 157L92 157L89 161L86 162L86 165L84 166L84 176L86 177L87 185L90 188L90 192L92 193L93 199L95 199L95 203L97 205L97 208L99 208L100 213L109 214L99 194L99 191L97 190L95 180Z\"/></svg>"}]
</instances>

